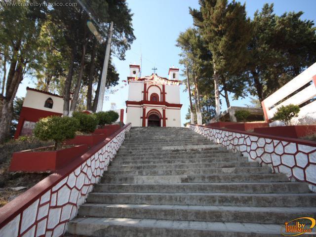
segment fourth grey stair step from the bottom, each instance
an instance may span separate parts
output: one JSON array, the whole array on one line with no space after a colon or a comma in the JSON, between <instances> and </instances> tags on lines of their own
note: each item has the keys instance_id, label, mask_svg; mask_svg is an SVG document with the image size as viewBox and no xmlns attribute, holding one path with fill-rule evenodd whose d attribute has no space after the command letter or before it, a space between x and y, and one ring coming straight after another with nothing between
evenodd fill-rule
<instances>
[{"instance_id":1,"label":"fourth grey stair step from the bottom","mask_svg":"<svg viewBox=\"0 0 316 237\"><path fill-rule=\"evenodd\" d=\"M207 183L207 184L97 184L94 192L108 193L308 193L306 183Z\"/></svg>"}]
</instances>

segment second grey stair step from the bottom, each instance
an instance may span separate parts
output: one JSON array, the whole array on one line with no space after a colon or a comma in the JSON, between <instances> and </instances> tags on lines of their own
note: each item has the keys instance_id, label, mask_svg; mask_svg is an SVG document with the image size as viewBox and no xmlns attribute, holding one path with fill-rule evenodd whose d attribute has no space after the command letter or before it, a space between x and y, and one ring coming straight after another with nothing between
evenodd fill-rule
<instances>
[{"instance_id":1,"label":"second grey stair step from the bottom","mask_svg":"<svg viewBox=\"0 0 316 237\"><path fill-rule=\"evenodd\" d=\"M144 218L173 221L283 224L298 216L315 216L315 207L246 207L146 204L91 204L80 206L85 217Z\"/></svg>"}]
</instances>

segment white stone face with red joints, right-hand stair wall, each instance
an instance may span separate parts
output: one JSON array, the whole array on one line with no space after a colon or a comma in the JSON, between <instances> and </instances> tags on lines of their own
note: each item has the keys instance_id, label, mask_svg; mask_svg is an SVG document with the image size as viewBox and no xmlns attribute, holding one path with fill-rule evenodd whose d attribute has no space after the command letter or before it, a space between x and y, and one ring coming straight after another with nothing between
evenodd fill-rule
<instances>
[{"instance_id":1,"label":"white stone face with red joints, right-hand stair wall","mask_svg":"<svg viewBox=\"0 0 316 237\"><path fill-rule=\"evenodd\" d=\"M285 173L291 180L308 182L310 189L316 192L316 146L192 124L188 127L214 143L240 152L250 161L269 165L275 173Z\"/></svg>"}]
</instances>

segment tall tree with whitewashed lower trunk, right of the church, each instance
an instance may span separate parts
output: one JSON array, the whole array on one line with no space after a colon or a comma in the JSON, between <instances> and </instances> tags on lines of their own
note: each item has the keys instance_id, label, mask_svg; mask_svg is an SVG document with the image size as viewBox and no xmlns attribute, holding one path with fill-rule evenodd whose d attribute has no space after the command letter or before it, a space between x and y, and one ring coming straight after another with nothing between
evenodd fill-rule
<instances>
[{"instance_id":1,"label":"tall tree with whitewashed lower trunk, right of the church","mask_svg":"<svg viewBox=\"0 0 316 237\"><path fill-rule=\"evenodd\" d=\"M200 9L191 9L198 27L212 53L216 115L220 115L220 77L235 72L247 62L246 46L251 37L250 19L245 5L233 0L199 0Z\"/></svg>"}]
</instances>

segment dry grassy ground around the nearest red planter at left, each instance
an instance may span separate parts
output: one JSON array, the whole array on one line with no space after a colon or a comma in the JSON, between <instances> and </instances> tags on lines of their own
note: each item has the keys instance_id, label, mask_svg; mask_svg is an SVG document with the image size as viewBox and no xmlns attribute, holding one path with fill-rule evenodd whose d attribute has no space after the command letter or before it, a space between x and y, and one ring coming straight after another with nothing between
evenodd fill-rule
<instances>
[{"instance_id":1,"label":"dry grassy ground around the nearest red planter at left","mask_svg":"<svg viewBox=\"0 0 316 237\"><path fill-rule=\"evenodd\" d=\"M0 207L24 193L35 184L47 177L49 173L21 173L9 172L11 156L13 152L35 149L52 145L52 142L40 142L32 137L22 137L18 140L9 140L0 145ZM14 191L11 188L26 187L25 189Z\"/></svg>"}]
</instances>

